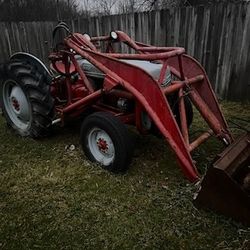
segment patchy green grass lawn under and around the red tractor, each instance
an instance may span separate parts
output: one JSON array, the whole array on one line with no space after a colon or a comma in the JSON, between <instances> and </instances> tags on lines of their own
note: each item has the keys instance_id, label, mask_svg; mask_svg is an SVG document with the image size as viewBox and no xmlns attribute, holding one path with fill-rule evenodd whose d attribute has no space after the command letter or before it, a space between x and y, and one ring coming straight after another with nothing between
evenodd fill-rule
<instances>
[{"instance_id":1,"label":"patchy green grass lawn under and around the red tractor","mask_svg":"<svg viewBox=\"0 0 250 250\"><path fill-rule=\"evenodd\" d=\"M249 104L223 110L250 120ZM195 119L192 132L203 129ZM20 138L0 118L0 249L250 248L249 228L193 206L196 187L162 140L135 135L130 169L111 175L87 161L78 135ZM201 172L221 150L215 139L196 150Z\"/></svg>"}]
</instances>

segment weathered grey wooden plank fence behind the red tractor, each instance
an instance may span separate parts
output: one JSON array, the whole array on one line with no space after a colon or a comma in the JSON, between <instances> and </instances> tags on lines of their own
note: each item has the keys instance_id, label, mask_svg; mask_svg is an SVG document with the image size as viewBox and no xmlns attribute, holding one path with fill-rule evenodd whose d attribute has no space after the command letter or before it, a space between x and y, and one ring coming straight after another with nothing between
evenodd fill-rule
<instances>
[{"instance_id":1,"label":"weathered grey wooden plank fence behind the red tractor","mask_svg":"<svg viewBox=\"0 0 250 250\"><path fill-rule=\"evenodd\" d=\"M182 46L205 67L224 99L250 100L250 4L217 4L68 22L91 36L122 30L160 46ZM0 23L0 62L27 51L47 62L56 22Z\"/></svg>"}]
</instances>

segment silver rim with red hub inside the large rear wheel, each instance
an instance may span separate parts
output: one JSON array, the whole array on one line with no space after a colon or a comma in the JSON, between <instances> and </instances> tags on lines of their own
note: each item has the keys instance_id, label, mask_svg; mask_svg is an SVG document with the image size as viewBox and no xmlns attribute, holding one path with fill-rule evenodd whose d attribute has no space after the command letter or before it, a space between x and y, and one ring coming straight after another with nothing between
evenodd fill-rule
<instances>
[{"instance_id":1,"label":"silver rim with red hub inside the large rear wheel","mask_svg":"<svg viewBox=\"0 0 250 250\"><path fill-rule=\"evenodd\" d=\"M13 80L3 84L3 104L11 122L20 130L27 130L31 124L31 107L22 88Z\"/></svg>"}]
</instances>

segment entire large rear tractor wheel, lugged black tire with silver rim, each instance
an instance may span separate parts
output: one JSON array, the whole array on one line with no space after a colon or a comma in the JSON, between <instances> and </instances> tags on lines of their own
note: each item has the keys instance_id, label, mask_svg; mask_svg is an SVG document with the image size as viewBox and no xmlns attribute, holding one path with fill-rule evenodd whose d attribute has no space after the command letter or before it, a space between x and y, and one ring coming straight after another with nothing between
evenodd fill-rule
<instances>
[{"instance_id":1,"label":"entire large rear tractor wheel, lugged black tire with silver rim","mask_svg":"<svg viewBox=\"0 0 250 250\"><path fill-rule=\"evenodd\" d=\"M21 136L48 135L54 100L45 73L27 61L13 59L3 65L0 81L0 105L8 125Z\"/></svg>"}]
</instances>

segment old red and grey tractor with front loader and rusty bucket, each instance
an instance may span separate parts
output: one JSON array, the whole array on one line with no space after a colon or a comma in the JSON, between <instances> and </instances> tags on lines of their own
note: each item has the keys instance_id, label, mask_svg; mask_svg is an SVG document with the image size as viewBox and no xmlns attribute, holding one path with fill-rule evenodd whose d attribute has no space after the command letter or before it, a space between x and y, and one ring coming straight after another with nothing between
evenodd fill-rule
<instances>
[{"instance_id":1,"label":"old red and grey tractor with front loader and rusty bucket","mask_svg":"<svg viewBox=\"0 0 250 250\"><path fill-rule=\"evenodd\" d=\"M134 53L116 53L121 44ZM45 136L54 124L85 114L85 154L120 172L133 148L125 124L134 125L140 133L161 134L191 182L201 178L191 152L215 136L227 148L203 178L195 202L250 224L250 136L234 141L204 69L183 48L135 42L121 31L90 37L60 23L49 59L47 69L33 55L16 53L2 66L1 106L18 134ZM210 129L190 142L192 106Z\"/></svg>"}]
</instances>

